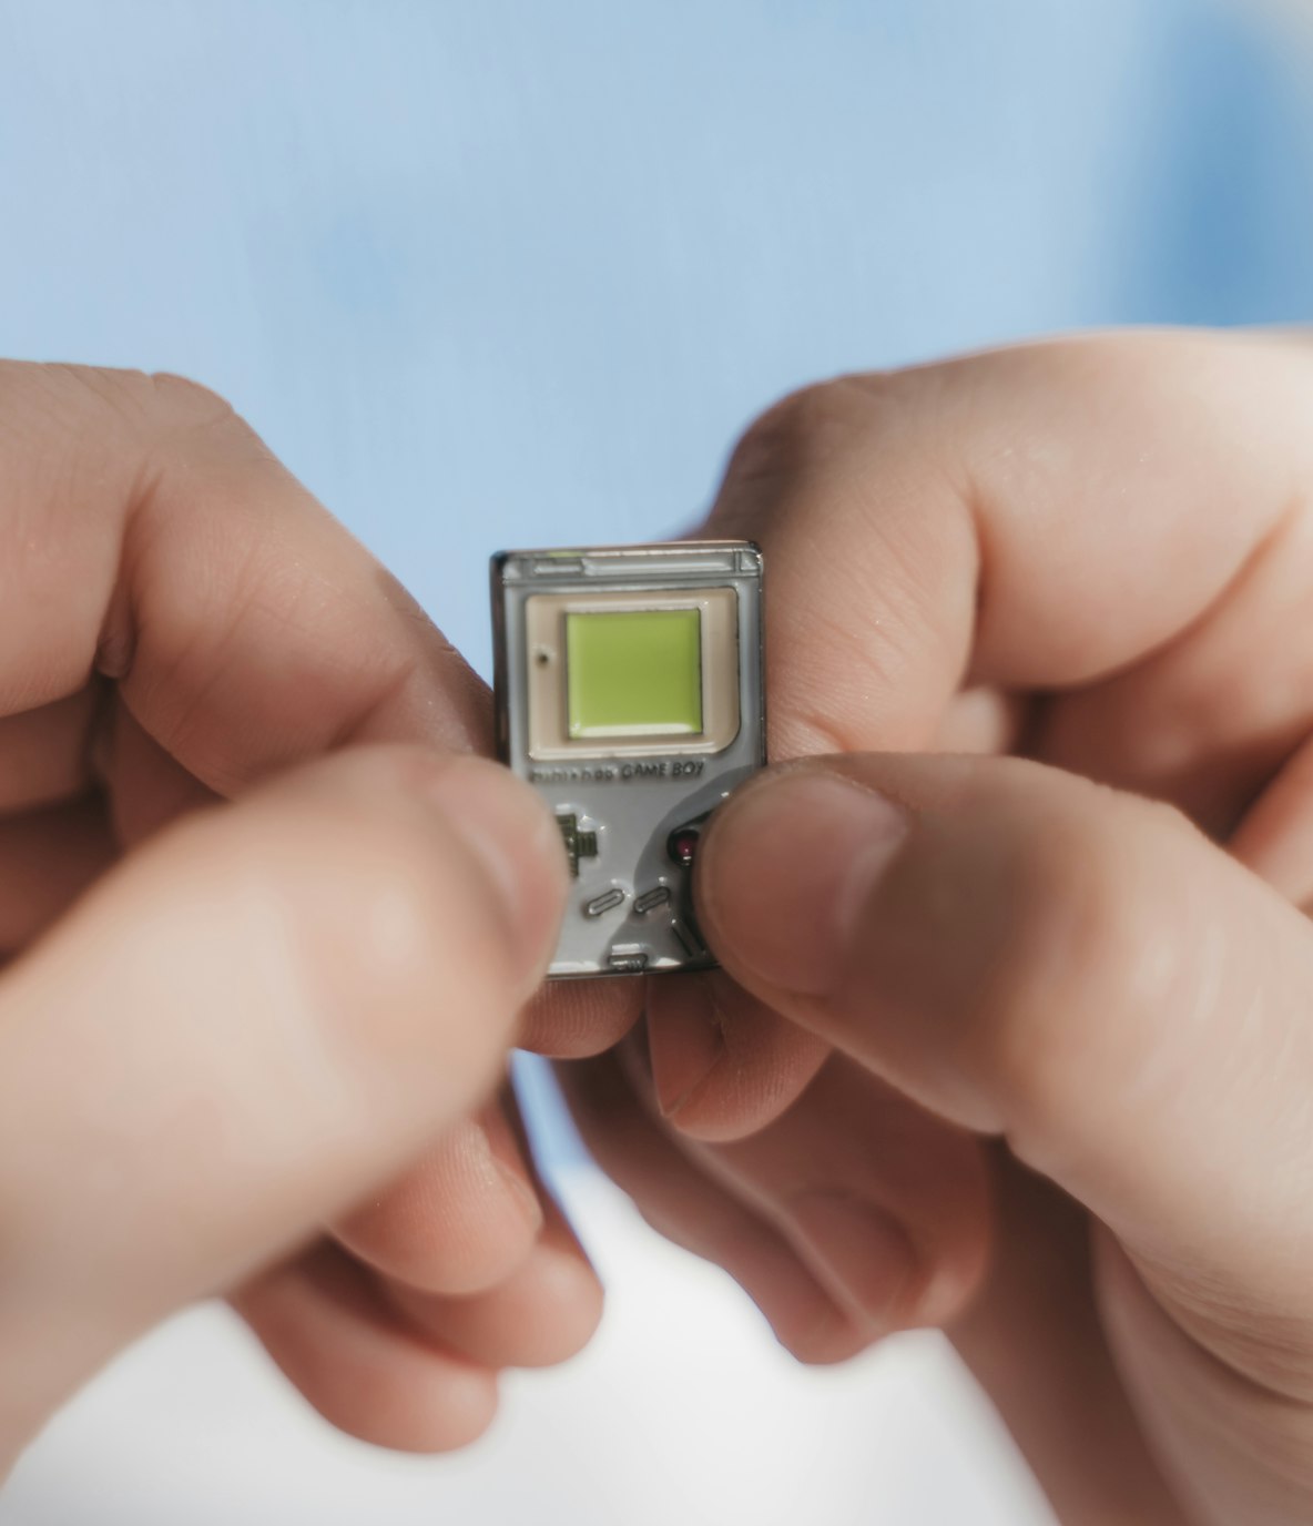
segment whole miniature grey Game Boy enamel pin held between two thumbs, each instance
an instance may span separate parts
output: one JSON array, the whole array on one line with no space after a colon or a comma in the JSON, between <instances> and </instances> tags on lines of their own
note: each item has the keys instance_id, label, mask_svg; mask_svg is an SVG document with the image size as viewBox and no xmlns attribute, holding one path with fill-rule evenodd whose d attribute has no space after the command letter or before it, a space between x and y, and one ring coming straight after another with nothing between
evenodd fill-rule
<instances>
[{"instance_id":1,"label":"whole miniature grey Game Boy enamel pin held between two thumbs","mask_svg":"<svg viewBox=\"0 0 1313 1526\"><path fill-rule=\"evenodd\" d=\"M550 974L713 966L692 867L707 816L765 763L760 551L504 551L492 595L501 755L569 859Z\"/></svg>"}]
</instances>

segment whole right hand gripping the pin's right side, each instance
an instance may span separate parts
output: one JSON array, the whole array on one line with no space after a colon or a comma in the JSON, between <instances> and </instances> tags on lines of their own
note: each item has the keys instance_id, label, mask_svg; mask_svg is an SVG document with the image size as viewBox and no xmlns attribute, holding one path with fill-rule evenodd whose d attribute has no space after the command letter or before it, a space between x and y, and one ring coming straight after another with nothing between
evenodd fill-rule
<instances>
[{"instance_id":1,"label":"whole right hand gripping the pin's right side","mask_svg":"<svg viewBox=\"0 0 1313 1526\"><path fill-rule=\"evenodd\" d=\"M655 1085L569 1073L794 1349L945 1325L1069 1523L1313 1517L1310 406L1156 334L766 415L711 522L774 755L841 755L704 839Z\"/></svg>"}]
</instances>

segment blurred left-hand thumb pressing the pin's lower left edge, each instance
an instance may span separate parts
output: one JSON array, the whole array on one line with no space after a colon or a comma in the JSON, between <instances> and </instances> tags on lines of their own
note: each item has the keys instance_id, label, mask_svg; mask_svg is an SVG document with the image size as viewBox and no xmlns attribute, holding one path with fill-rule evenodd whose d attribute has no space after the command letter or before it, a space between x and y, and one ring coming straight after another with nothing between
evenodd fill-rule
<instances>
[{"instance_id":1,"label":"blurred left-hand thumb pressing the pin's lower left edge","mask_svg":"<svg viewBox=\"0 0 1313 1526\"><path fill-rule=\"evenodd\" d=\"M563 900L507 771L369 748L163 832L0 981L0 1466L499 1074Z\"/></svg>"}]
</instances>

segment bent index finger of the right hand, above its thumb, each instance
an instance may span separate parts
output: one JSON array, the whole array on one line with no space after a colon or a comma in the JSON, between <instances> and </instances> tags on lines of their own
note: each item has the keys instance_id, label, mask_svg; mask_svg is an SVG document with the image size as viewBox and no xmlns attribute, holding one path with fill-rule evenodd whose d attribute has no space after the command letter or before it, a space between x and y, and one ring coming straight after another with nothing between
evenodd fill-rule
<instances>
[{"instance_id":1,"label":"bent index finger of the right hand, above its thumb","mask_svg":"<svg viewBox=\"0 0 1313 1526\"><path fill-rule=\"evenodd\" d=\"M1253 334L1090 336L808 389L710 525L766 551L776 757L931 742L963 682L1160 650L1313 485L1313 365Z\"/></svg>"}]
</instances>

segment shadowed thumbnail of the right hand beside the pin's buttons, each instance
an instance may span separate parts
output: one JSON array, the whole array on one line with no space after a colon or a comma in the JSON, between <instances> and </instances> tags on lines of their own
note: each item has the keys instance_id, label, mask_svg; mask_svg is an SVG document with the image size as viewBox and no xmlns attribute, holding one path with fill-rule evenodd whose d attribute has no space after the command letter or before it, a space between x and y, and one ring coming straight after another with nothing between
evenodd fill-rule
<instances>
[{"instance_id":1,"label":"shadowed thumbnail of the right hand beside the pin's buttons","mask_svg":"<svg viewBox=\"0 0 1313 1526\"><path fill-rule=\"evenodd\" d=\"M715 951L782 990L834 990L905 835L896 806L841 774L798 769L750 786L721 807L701 855L699 911Z\"/></svg>"}]
</instances>

